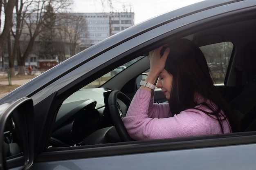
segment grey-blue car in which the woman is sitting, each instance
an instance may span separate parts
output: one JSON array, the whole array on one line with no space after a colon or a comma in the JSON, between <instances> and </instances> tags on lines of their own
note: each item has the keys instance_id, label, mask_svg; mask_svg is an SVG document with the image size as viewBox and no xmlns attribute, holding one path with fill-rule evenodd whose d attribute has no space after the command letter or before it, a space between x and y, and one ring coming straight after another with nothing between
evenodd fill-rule
<instances>
[{"instance_id":1,"label":"grey-blue car in which the woman is sitting","mask_svg":"<svg viewBox=\"0 0 256 170\"><path fill-rule=\"evenodd\" d=\"M255 169L255 114L242 132L121 141L108 108L112 91L132 99L149 68L148 52L178 38L205 52L216 88L234 110L254 108L256 88L247 95L243 91L250 77L255 80L250 59L255 30L255 0L206 0L132 26L74 55L0 99L2 169ZM231 51L212 52L216 44ZM216 53L223 60L211 60ZM122 65L127 68L112 76ZM159 89L154 99L166 102Z\"/></svg>"}]
</instances>

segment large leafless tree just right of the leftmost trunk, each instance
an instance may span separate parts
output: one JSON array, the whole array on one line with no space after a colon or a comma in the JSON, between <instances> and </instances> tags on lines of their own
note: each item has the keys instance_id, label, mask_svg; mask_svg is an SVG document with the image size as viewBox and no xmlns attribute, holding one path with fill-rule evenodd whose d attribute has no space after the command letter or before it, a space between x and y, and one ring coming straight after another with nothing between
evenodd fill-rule
<instances>
[{"instance_id":1,"label":"large leafless tree just right of the leftmost trunk","mask_svg":"<svg viewBox=\"0 0 256 170\"><path fill-rule=\"evenodd\" d=\"M42 32L44 21L48 19L45 15L47 5L52 6L54 13L61 13L70 7L73 0L18 1L16 4L16 27L13 29L14 42L17 45L13 45L12 56L17 56L18 74L25 74L25 61L33 49L36 38ZM20 43L26 44L26 46L21 48Z\"/></svg>"}]
</instances>

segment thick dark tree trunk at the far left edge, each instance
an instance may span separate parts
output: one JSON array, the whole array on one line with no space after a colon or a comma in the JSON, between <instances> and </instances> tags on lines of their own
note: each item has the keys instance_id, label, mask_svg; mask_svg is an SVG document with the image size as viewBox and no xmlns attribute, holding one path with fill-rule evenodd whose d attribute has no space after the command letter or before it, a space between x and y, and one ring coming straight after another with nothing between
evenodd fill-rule
<instances>
[{"instance_id":1,"label":"thick dark tree trunk at the far left edge","mask_svg":"<svg viewBox=\"0 0 256 170\"><path fill-rule=\"evenodd\" d=\"M7 37L9 36L9 33L11 31L11 27L13 26L12 17L13 17L13 8L15 6L16 0L0 0L0 25L2 23L1 21L1 14L2 14L2 7L4 9L4 28L2 30L2 33L0 33L0 55L2 56L3 49L7 42ZM2 56L4 57L4 56ZM2 60L4 61L4 60ZM3 63L4 64L4 63Z\"/></svg>"}]
</instances>

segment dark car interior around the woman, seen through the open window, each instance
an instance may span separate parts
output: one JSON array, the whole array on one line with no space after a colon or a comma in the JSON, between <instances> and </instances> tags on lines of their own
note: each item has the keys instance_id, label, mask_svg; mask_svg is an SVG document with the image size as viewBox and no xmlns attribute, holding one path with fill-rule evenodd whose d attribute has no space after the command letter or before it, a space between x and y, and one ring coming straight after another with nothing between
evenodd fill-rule
<instances>
[{"instance_id":1,"label":"dark car interior around the woman, seen through the open window","mask_svg":"<svg viewBox=\"0 0 256 170\"><path fill-rule=\"evenodd\" d=\"M242 131L256 130L256 19L245 18L236 16L236 19L204 23L184 30L185 36L166 35L161 41L141 49L141 53L128 56L128 62L117 62L115 68L126 66L121 72L112 74L106 70L90 84L82 84L79 90L63 98L49 148L131 141L120 136L125 132L118 132L121 125L116 125L111 116L114 112L109 104L109 98L113 98L111 93L121 91L131 100L139 88L138 82L149 69L148 52L175 38L187 38L200 47L216 88L234 109ZM113 66L112 71L115 68ZM115 97L115 109L121 120L129 102L117 94ZM166 102L161 89L155 89L155 102Z\"/></svg>"}]
</instances>

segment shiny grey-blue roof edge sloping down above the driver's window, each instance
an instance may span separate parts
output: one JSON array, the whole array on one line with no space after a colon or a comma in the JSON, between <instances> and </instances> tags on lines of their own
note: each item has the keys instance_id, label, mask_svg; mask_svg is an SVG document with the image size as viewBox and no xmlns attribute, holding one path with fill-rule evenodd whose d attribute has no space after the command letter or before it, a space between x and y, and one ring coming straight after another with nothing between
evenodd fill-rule
<instances>
[{"instance_id":1,"label":"shiny grey-blue roof edge sloping down above the driver's window","mask_svg":"<svg viewBox=\"0 0 256 170\"><path fill-rule=\"evenodd\" d=\"M113 49L116 46L128 40L131 40L132 38L135 38L138 35L149 32L150 30L155 29L159 26L162 26L169 22L173 22L175 20L183 20L183 18L186 18L187 16L193 16L194 14L200 13L202 11L205 11L205 13L209 13L208 14L209 16L210 15L215 16L219 13L225 13L230 10L235 11L236 9L238 9L235 3L240 3L240 2L243 2L244 8L251 7L251 6L255 7L256 5L256 1L254 0L218 0L218 1L205 0L195 4L191 4L186 7L182 7L180 9L176 9L174 11L164 13L162 15L158 15L154 18L151 18L150 20L146 20L144 22L131 26L130 28L120 33L117 33L115 35L112 35L111 37L106 38L105 40L99 42L98 44L95 44L94 46L91 46L90 48L85 49L84 51L74 55L70 59L65 60L63 63L58 64L57 66L46 71L45 73L38 75L31 81L27 82L26 84L20 86L16 90L2 97L0 99L0 104L3 102L8 102L10 100L15 100L25 96L30 97L35 93L37 93L38 91L40 91L40 89L43 89L44 87L48 86L52 82L55 82L60 77L63 77L70 71L78 68L79 66L92 60L98 55L103 54L104 52L110 49ZM211 9L214 9L214 10L211 10ZM218 9L221 9L221 10L218 10ZM186 19L184 20L185 20L184 22L191 24L190 21L186 21ZM177 27L179 26L180 26L179 23L177 23ZM199 39L198 39L198 43L200 43ZM80 76L80 75L77 75L77 76ZM66 83L69 83L69 82L66 82ZM20 93L20 91L22 91L22 93Z\"/></svg>"}]
</instances>

